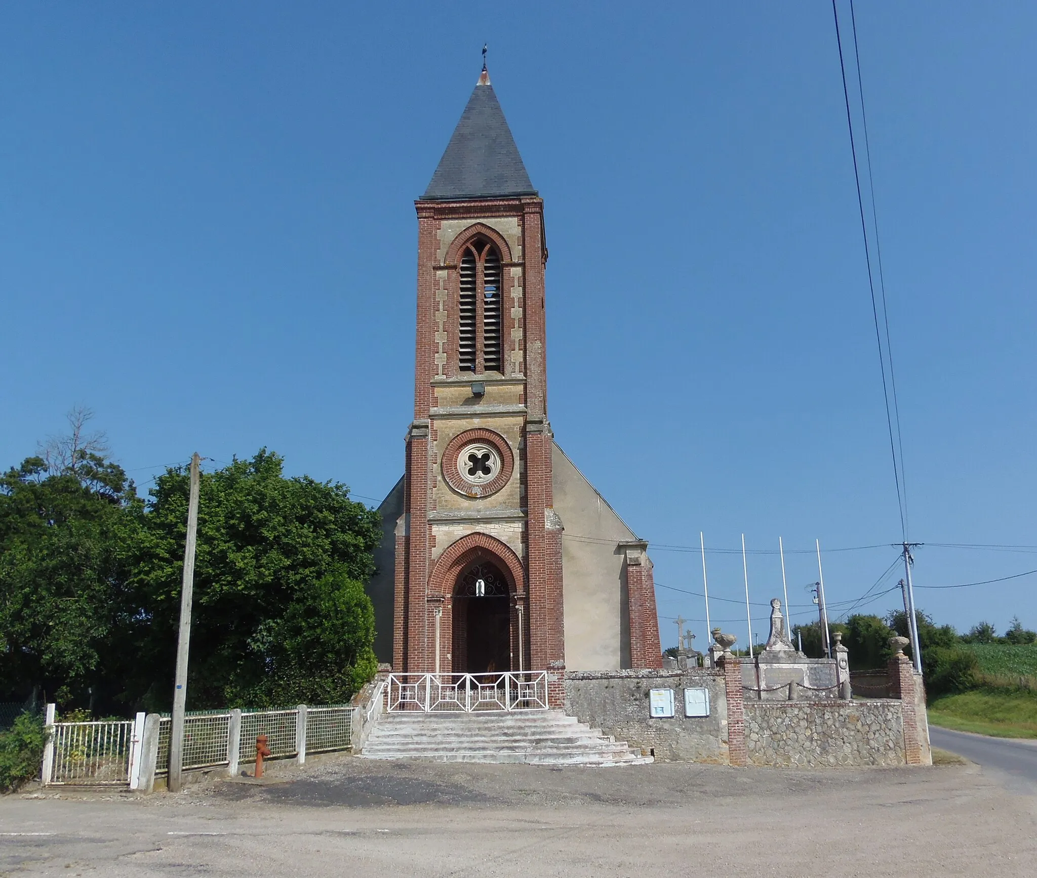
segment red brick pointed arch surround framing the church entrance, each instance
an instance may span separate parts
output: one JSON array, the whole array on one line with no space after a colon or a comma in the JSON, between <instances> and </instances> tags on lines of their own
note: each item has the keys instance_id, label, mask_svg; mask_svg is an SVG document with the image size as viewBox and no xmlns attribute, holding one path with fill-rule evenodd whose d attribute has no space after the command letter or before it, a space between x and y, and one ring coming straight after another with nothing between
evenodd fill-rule
<instances>
[{"instance_id":1,"label":"red brick pointed arch surround framing the church entrance","mask_svg":"<svg viewBox=\"0 0 1037 878\"><path fill-rule=\"evenodd\" d=\"M509 651L511 670L520 670L520 664L529 668L529 616L526 606L526 577L518 556L504 542L488 534L468 534L452 543L440 556L428 582L428 600L435 602L442 613L442 642L440 670L451 673L455 668L466 670L467 645L454 644L454 586L460 573L471 564L488 561L500 568L507 579L510 597L509 605ZM520 607L523 619L520 621ZM521 632L521 633L520 633ZM451 646L447 646L447 644ZM433 647L435 651L435 647ZM436 657L431 656L435 665ZM498 669L503 670L503 669Z\"/></svg>"}]
</instances>

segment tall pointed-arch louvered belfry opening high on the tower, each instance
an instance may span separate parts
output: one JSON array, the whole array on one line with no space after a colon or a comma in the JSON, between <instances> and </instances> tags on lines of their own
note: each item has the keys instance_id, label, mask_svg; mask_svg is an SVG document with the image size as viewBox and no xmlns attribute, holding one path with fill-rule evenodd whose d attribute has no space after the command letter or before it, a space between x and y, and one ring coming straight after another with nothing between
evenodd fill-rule
<instances>
[{"instance_id":1,"label":"tall pointed-arch louvered belfry opening high on the tower","mask_svg":"<svg viewBox=\"0 0 1037 878\"><path fill-rule=\"evenodd\" d=\"M461 372L503 372L503 290L497 248L484 238L475 238L464 250L459 273L457 368Z\"/></svg>"}]
</instances>

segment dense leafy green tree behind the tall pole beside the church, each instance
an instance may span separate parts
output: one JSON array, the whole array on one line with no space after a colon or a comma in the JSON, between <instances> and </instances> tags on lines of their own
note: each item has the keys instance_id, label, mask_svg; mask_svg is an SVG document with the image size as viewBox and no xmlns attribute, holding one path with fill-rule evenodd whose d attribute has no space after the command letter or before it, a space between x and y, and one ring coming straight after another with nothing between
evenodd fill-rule
<instances>
[{"instance_id":1,"label":"dense leafy green tree behind the tall pole beside the church","mask_svg":"<svg viewBox=\"0 0 1037 878\"><path fill-rule=\"evenodd\" d=\"M129 689L148 707L171 700L189 493L186 468L156 481L133 577L142 646L127 669ZM352 693L375 670L360 584L380 537L379 514L348 488L285 478L282 458L265 449L202 474L189 707Z\"/></svg>"}]
</instances>

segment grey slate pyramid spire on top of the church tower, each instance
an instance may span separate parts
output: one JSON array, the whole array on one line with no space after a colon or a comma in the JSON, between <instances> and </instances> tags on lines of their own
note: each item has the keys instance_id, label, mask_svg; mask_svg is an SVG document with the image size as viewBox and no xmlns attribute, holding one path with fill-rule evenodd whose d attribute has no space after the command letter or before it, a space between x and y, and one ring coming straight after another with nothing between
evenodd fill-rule
<instances>
[{"instance_id":1,"label":"grey slate pyramid spire on top of the church tower","mask_svg":"<svg viewBox=\"0 0 1037 878\"><path fill-rule=\"evenodd\" d=\"M536 195L483 66L422 201Z\"/></svg>"}]
</instances>

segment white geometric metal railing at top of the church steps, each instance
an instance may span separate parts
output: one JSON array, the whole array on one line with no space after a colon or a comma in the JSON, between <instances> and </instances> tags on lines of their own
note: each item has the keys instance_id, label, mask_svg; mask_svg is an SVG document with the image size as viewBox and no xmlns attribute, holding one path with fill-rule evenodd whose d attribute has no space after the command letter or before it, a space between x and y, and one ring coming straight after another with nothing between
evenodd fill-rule
<instances>
[{"instance_id":1,"label":"white geometric metal railing at top of the church steps","mask_svg":"<svg viewBox=\"0 0 1037 878\"><path fill-rule=\"evenodd\" d=\"M390 674L388 709L426 713L546 710L548 672Z\"/></svg>"}]
</instances>

